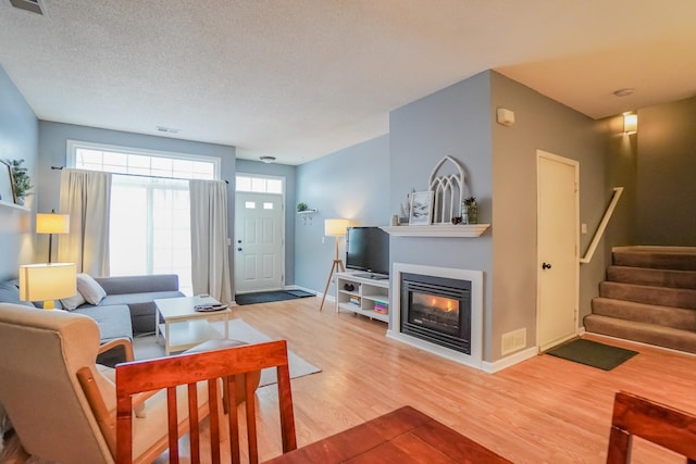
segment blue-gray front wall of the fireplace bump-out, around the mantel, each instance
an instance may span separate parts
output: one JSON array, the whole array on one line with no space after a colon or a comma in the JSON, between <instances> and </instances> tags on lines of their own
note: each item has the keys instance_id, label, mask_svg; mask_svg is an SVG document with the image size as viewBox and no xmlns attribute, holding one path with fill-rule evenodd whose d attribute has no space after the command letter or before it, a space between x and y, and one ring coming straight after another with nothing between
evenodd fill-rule
<instances>
[{"instance_id":1,"label":"blue-gray front wall of the fireplace bump-out, around the mantel","mask_svg":"<svg viewBox=\"0 0 696 464\"><path fill-rule=\"evenodd\" d=\"M478 223L490 224L489 101L490 78L486 72L390 113L389 204L394 212L411 189L427 190L433 168L445 155L450 155L464 167L465 195L476 197ZM393 237L390 242L393 262L483 271L484 340L490 338L490 230L477 238Z\"/></svg>"}]
</instances>

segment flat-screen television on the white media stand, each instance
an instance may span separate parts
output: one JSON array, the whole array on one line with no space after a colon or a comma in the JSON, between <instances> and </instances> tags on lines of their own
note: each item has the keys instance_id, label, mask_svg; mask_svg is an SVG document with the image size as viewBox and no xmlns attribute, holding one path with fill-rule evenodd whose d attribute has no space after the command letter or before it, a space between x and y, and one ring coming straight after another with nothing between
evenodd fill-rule
<instances>
[{"instance_id":1,"label":"flat-screen television on the white media stand","mask_svg":"<svg viewBox=\"0 0 696 464\"><path fill-rule=\"evenodd\" d=\"M364 271L357 277L389 277L389 234L380 227L348 227L346 231L346 268Z\"/></svg>"}]
</instances>

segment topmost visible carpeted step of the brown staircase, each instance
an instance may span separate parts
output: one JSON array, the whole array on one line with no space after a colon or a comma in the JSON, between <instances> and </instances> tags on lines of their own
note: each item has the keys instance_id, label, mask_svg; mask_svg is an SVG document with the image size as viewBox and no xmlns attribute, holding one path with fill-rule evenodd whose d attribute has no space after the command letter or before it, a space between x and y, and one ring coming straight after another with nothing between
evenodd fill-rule
<instances>
[{"instance_id":1,"label":"topmost visible carpeted step of the brown staircase","mask_svg":"<svg viewBox=\"0 0 696 464\"><path fill-rule=\"evenodd\" d=\"M612 250L617 266L696 271L694 247L619 247Z\"/></svg>"}]
</instances>

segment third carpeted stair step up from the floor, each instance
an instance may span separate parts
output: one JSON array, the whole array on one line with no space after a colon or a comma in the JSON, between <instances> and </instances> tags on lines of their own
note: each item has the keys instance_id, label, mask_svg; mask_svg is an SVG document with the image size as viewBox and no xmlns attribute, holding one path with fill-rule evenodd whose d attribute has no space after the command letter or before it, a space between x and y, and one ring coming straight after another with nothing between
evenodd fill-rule
<instances>
[{"instance_id":1,"label":"third carpeted stair step up from the floor","mask_svg":"<svg viewBox=\"0 0 696 464\"><path fill-rule=\"evenodd\" d=\"M696 290L685 288L650 287L645 285L602 281L599 283L599 296L613 300L696 310Z\"/></svg>"}]
</instances>

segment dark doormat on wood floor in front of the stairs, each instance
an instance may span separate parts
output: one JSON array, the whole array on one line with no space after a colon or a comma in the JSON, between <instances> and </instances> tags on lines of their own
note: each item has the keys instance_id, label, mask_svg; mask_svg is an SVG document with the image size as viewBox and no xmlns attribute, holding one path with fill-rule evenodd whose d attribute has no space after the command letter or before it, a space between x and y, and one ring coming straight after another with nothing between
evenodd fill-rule
<instances>
[{"instance_id":1,"label":"dark doormat on wood floor in front of the stairs","mask_svg":"<svg viewBox=\"0 0 696 464\"><path fill-rule=\"evenodd\" d=\"M611 371L638 354L638 352L579 338L556 347L547 351L546 354L604 371Z\"/></svg>"}]
</instances>

